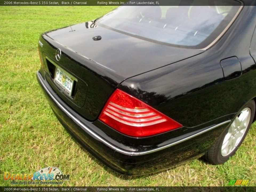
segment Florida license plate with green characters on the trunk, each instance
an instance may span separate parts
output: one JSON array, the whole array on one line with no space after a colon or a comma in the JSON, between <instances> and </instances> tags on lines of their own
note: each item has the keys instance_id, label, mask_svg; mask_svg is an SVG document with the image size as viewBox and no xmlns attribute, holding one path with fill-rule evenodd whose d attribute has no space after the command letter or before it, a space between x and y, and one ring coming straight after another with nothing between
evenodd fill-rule
<instances>
[{"instance_id":1,"label":"Florida license plate with green characters on the trunk","mask_svg":"<svg viewBox=\"0 0 256 192\"><path fill-rule=\"evenodd\" d=\"M59 67L56 67L56 73L54 78L55 83L57 83L62 90L71 96L73 85L74 85L74 79L71 77L70 74L68 74L66 71L60 69Z\"/></svg>"}]
</instances>

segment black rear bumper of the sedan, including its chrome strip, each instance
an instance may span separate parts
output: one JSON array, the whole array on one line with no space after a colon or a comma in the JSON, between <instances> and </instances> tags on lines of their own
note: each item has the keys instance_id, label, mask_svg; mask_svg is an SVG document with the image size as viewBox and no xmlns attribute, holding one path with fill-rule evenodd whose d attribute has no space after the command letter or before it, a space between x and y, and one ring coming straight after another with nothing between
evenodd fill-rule
<instances>
[{"instance_id":1,"label":"black rear bumper of the sedan, including its chrome strip","mask_svg":"<svg viewBox=\"0 0 256 192\"><path fill-rule=\"evenodd\" d=\"M37 79L53 112L62 125L95 157L122 174L153 173L199 157L205 153L230 122L228 120L205 127L169 139L167 142L159 143L159 145L127 145L110 137L95 126L94 122L87 121L66 105L55 94L39 71L37 72Z\"/></svg>"}]
</instances>

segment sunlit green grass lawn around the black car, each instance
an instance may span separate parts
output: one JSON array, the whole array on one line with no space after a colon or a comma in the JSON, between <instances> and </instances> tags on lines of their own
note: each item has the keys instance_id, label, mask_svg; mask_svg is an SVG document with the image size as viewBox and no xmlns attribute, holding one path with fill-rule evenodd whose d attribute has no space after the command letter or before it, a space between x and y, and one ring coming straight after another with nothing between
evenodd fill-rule
<instances>
[{"instance_id":1,"label":"sunlit green grass lawn around the black car","mask_svg":"<svg viewBox=\"0 0 256 192\"><path fill-rule=\"evenodd\" d=\"M47 166L70 174L64 186L227 186L249 179L255 186L256 131L251 127L224 165L200 160L143 177L125 177L95 159L58 122L40 90L36 71L43 31L97 18L114 7L0 7L0 186L3 172L33 173ZM23 185L21 185L23 186Z\"/></svg>"}]
</instances>

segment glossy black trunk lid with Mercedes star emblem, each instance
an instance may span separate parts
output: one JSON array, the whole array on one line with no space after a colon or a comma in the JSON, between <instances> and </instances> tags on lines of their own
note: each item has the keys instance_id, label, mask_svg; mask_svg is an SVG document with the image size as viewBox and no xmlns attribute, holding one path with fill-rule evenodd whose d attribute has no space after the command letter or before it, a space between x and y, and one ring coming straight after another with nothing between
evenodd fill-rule
<instances>
[{"instance_id":1,"label":"glossy black trunk lid with Mercedes star emblem","mask_svg":"<svg viewBox=\"0 0 256 192\"><path fill-rule=\"evenodd\" d=\"M101 40L94 41L98 35ZM56 94L90 121L98 117L111 93L125 79L203 52L134 38L93 22L49 31L40 41L44 44L39 49L48 67L47 81ZM57 49L62 53L59 61L55 58ZM54 82L56 67L77 79L72 97Z\"/></svg>"}]
</instances>

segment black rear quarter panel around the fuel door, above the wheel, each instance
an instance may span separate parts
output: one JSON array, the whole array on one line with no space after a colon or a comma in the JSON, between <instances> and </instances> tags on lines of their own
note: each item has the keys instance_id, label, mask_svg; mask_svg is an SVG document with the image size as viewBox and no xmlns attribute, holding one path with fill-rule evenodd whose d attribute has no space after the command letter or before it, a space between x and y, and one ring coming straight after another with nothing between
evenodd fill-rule
<instances>
[{"instance_id":1,"label":"black rear quarter panel around the fuel door, above the wheel","mask_svg":"<svg viewBox=\"0 0 256 192\"><path fill-rule=\"evenodd\" d=\"M256 65L250 56L255 13L255 7L245 6L210 49L127 79L119 88L186 127L232 119L256 95ZM233 56L241 62L242 75L226 81L220 61Z\"/></svg>"}]
</instances>

